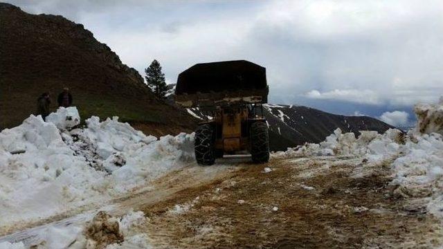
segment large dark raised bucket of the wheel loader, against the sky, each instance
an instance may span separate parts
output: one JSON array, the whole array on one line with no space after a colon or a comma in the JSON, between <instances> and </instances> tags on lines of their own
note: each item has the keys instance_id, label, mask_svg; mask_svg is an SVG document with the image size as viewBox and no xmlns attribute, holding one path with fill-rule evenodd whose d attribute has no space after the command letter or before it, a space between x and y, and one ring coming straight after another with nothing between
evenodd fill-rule
<instances>
[{"instance_id":1,"label":"large dark raised bucket of the wheel loader, against the sky","mask_svg":"<svg viewBox=\"0 0 443 249\"><path fill-rule=\"evenodd\" d=\"M266 68L246 60L201 63L179 74L175 101L183 107L266 103Z\"/></svg>"}]
</instances>

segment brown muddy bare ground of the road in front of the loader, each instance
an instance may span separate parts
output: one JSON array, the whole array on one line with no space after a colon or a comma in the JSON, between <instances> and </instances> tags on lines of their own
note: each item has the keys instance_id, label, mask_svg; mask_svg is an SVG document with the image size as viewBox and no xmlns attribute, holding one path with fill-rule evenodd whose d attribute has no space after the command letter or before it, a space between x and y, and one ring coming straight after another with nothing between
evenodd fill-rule
<instances>
[{"instance_id":1,"label":"brown muddy bare ground of the road in front of the loader","mask_svg":"<svg viewBox=\"0 0 443 249\"><path fill-rule=\"evenodd\" d=\"M335 160L335 161L334 161ZM159 248L430 248L440 221L404 208L388 163L352 174L355 158L273 159L147 203ZM359 161L361 162L361 160ZM264 167L272 172L264 173Z\"/></svg>"}]
</instances>

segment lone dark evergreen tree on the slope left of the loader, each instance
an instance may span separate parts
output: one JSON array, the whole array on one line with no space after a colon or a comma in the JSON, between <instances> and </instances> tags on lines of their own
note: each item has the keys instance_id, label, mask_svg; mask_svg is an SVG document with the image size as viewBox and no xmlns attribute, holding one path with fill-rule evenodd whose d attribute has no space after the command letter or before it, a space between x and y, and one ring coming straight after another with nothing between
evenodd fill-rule
<instances>
[{"instance_id":1,"label":"lone dark evergreen tree on the slope left of the loader","mask_svg":"<svg viewBox=\"0 0 443 249\"><path fill-rule=\"evenodd\" d=\"M161 72L160 63L154 59L148 68L145 68L145 80L147 86L150 87L152 92L159 98L165 98L166 91L168 90L165 82L165 74Z\"/></svg>"}]
</instances>

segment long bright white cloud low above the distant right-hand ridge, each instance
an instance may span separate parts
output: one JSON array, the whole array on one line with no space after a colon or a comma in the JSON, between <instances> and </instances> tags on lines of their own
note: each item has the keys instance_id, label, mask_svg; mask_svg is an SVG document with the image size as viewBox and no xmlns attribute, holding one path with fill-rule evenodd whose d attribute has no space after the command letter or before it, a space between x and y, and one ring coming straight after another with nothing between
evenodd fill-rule
<instances>
[{"instance_id":1,"label":"long bright white cloud low above the distant right-hand ridge","mask_svg":"<svg viewBox=\"0 0 443 249\"><path fill-rule=\"evenodd\" d=\"M320 93L317 90L312 90L305 93L307 98L317 100L338 100L345 102L355 102L359 104L383 104L377 93L371 90L339 90L327 91Z\"/></svg>"}]
</instances>

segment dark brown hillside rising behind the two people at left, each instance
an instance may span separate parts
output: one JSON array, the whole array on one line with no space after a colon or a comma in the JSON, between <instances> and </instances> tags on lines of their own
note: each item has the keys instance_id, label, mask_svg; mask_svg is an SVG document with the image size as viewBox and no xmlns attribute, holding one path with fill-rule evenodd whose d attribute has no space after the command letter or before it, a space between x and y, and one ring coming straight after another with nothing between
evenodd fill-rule
<instances>
[{"instance_id":1,"label":"dark brown hillside rising behind the two people at left","mask_svg":"<svg viewBox=\"0 0 443 249\"><path fill-rule=\"evenodd\" d=\"M43 92L51 93L55 111L65 86L82 120L119 116L156 136L195 127L194 118L154 97L141 75L82 24L0 3L0 28L0 129L35 113Z\"/></svg>"}]
</instances>

